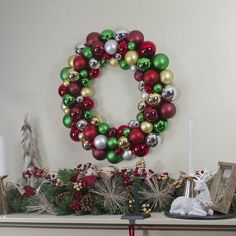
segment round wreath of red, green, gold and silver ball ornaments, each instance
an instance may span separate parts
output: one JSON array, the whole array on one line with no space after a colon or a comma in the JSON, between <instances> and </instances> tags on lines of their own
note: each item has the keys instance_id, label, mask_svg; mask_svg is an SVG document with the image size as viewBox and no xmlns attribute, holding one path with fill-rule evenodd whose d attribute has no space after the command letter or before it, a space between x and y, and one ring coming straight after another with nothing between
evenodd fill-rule
<instances>
[{"instance_id":1,"label":"round wreath of red, green, gold and silver ball ornaments","mask_svg":"<svg viewBox=\"0 0 236 236\"><path fill-rule=\"evenodd\" d=\"M142 93L136 120L118 128L110 127L93 112L91 83L107 64L131 69ZM113 164L147 155L150 147L160 143L168 119L176 113L172 103L176 97L174 75L168 64L168 57L156 54L155 44L144 41L138 30L106 29L88 34L86 43L76 45L75 54L60 74L63 123L71 138L81 141L85 150L92 150L95 159Z\"/></svg>"}]
</instances>

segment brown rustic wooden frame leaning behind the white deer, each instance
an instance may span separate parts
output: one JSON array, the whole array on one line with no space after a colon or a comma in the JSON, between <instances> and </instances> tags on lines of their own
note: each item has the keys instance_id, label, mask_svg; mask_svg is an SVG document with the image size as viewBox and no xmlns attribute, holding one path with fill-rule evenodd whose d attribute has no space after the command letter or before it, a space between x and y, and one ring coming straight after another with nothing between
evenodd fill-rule
<instances>
[{"instance_id":1,"label":"brown rustic wooden frame leaning behind the white deer","mask_svg":"<svg viewBox=\"0 0 236 236\"><path fill-rule=\"evenodd\" d=\"M236 190L236 163L219 162L218 165L210 187L212 209L228 214Z\"/></svg>"}]
</instances>

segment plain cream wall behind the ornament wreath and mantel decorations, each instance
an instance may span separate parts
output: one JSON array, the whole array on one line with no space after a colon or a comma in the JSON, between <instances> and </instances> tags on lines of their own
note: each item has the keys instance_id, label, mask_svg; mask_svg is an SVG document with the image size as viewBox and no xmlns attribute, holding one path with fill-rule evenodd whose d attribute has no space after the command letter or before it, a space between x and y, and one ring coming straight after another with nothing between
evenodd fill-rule
<instances>
[{"instance_id":1,"label":"plain cream wall behind the ornament wreath and mantel decorations","mask_svg":"<svg viewBox=\"0 0 236 236\"><path fill-rule=\"evenodd\" d=\"M21 125L30 112L50 169L94 162L62 124L59 72L86 34L141 30L170 58L180 91L178 113L148 166L177 175L187 168L187 121L194 121L194 166L214 169L236 157L236 2L233 0L0 0L0 133L10 179L20 175ZM97 110L112 124L134 118L140 100L131 72L104 70ZM122 162L134 165L136 161ZM99 165L107 165L99 162Z\"/></svg>"}]
</instances>

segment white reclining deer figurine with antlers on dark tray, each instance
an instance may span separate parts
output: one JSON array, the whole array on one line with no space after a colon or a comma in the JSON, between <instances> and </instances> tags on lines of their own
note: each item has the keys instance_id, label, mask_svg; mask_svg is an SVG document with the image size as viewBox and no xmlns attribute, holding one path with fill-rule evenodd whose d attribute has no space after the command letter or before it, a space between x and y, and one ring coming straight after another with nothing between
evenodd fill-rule
<instances>
[{"instance_id":1,"label":"white reclining deer figurine with antlers on dark tray","mask_svg":"<svg viewBox=\"0 0 236 236\"><path fill-rule=\"evenodd\" d=\"M200 176L195 176L194 190L198 193L195 198L178 197L172 204L170 213L180 215L207 216L213 215L212 200L206 185L211 173L205 169Z\"/></svg>"}]
</instances>

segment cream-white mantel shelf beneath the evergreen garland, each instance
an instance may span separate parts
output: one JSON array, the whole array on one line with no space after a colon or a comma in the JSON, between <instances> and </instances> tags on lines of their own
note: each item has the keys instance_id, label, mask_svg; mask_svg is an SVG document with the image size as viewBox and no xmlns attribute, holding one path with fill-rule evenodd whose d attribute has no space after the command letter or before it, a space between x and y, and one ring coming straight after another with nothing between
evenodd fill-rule
<instances>
[{"instance_id":1,"label":"cream-white mantel shelf beneath the evergreen garland","mask_svg":"<svg viewBox=\"0 0 236 236\"><path fill-rule=\"evenodd\" d=\"M78 229L126 229L127 220L120 215L51 216L37 214L9 214L0 216L0 227L40 227ZM211 230L236 231L236 218L223 220L185 220L153 213L152 217L137 220L137 230Z\"/></svg>"}]
</instances>

